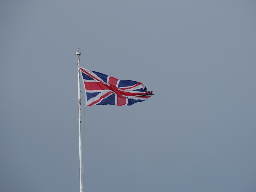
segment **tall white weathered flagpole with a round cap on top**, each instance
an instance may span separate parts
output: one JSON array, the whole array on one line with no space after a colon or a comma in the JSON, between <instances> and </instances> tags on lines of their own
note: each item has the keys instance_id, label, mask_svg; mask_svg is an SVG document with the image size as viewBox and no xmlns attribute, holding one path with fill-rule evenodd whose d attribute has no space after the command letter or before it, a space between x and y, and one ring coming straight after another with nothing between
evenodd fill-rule
<instances>
[{"instance_id":1,"label":"tall white weathered flagpole with a round cap on top","mask_svg":"<svg viewBox=\"0 0 256 192\"><path fill-rule=\"evenodd\" d=\"M80 175L80 192L83 192L83 184L82 184L82 148L81 148L81 99L80 99L80 55L81 52L76 52L77 55L77 66L78 66L78 122L79 122L79 175Z\"/></svg>"}]
</instances>

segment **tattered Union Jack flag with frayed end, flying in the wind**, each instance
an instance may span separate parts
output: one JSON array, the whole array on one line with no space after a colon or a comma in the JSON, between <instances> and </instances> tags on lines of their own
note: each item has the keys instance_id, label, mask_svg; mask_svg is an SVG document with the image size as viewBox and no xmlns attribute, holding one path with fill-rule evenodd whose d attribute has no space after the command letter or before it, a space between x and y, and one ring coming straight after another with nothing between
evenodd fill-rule
<instances>
[{"instance_id":1,"label":"tattered Union Jack flag with frayed end, flying in the wind","mask_svg":"<svg viewBox=\"0 0 256 192\"><path fill-rule=\"evenodd\" d=\"M145 101L153 94L137 81L119 80L80 67L86 93L86 106L132 105Z\"/></svg>"}]
</instances>

